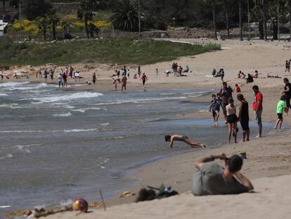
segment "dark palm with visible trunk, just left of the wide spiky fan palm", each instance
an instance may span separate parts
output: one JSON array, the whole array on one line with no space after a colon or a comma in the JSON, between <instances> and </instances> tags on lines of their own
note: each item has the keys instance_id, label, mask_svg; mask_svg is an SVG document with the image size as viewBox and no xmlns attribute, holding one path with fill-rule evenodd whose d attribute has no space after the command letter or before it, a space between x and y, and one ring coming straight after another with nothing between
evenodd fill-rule
<instances>
[{"instance_id":1,"label":"dark palm with visible trunk, just left of the wide spiky fan palm","mask_svg":"<svg viewBox=\"0 0 291 219\"><path fill-rule=\"evenodd\" d=\"M94 8L97 8L97 6L100 4L98 0L82 0L80 2L80 6L78 9L78 15L82 16L84 18L84 24L85 24L85 32L86 36L89 39L89 27L88 27L88 21L92 19L93 17L93 10Z\"/></svg>"}]
</instances>

